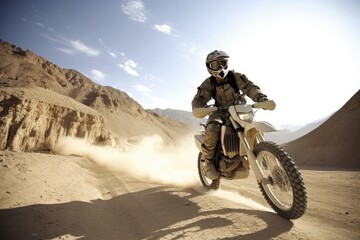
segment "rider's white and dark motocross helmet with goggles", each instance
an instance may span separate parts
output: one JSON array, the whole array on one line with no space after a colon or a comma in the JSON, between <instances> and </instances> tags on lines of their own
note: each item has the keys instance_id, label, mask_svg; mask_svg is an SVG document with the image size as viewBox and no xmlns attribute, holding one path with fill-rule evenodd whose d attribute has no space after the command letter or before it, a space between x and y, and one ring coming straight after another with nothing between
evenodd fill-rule
<instances>
[{"instance_id":1,"label":"rider's white and dark motocross helmet with goggles","mask_svg":"<svg viewBox=\"0 0 360 240\"><path fill-rule=\"evenodd\" d=\"M223 51L212 51L206 57L206 67L211 76L225 78L228 74L227 55Z\"/></svg>"}]
</instances>

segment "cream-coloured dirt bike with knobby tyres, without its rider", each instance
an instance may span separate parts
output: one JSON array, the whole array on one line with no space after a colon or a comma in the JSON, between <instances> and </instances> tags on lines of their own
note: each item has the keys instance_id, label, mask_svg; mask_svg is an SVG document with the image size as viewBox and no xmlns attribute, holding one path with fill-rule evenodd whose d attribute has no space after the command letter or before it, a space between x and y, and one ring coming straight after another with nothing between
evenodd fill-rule
<instances>
[{"instance_id":1,"label":"cream-coloured dirt bike with knobby tyres, without its rider","mask_svg":"<svg viewBox=\"0 0 360 240\"><path fill-rule=\"evenodd\" d=\"M281 146L264 139L264 132L280 129L264 121L254 121L254 109L274 110L275 107L272 100L246 104L244 96L239 94L234 104L229 107L207 106L194 109L193 114L198 118L204 118L216 111L223 111L227 116L227 121L221 126L214 159L220 178L210 180L205 175L205 162L201 159L205 131L194 136L200 150L198 173L206 190L217 190L221 178L245 179L252 170L271 208L284 218L297 219L305 213L307 207L306 189L301 173Z\"/></svg>"}]
</instances>

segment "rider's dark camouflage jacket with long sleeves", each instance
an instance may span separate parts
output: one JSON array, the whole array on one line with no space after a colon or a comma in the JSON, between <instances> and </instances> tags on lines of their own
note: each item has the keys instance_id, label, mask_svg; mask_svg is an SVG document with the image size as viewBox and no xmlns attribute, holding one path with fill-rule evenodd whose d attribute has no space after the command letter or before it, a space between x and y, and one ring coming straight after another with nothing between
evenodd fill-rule
<instances>
[{"instance_id":1,"label":"rider's dark camouflage jacket with long sleeves","mask_svg":"<svg viewBox=\"0 0 360 240\"><path fill-rule=\"evenodd\" d=\"M266 97L260 90L260 88L251 82L244 74L233 72L236 84L244 94L250 97L254 102L257 102L259 98ZM234 103L235 90L230 85L228 77L222 83L215 84L216 87L216 102L222 106L227 107ZM207 103L213 98L213 84L211 83L211 77L208 77L199 87L198 91L192 100L192 109L205 107Z\"/></svg>"}]
</instances>

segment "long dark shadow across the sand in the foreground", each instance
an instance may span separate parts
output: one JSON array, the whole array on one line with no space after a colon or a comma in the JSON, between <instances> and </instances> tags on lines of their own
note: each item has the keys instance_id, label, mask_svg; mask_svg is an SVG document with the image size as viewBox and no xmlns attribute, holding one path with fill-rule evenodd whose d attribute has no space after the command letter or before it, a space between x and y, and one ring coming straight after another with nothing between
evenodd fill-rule
<instances>
[{"instance_id":1,"label":"long dark shadow across the sand in the foreground","mask_svg":"<svg viewBox=\"0 0 360 240\"><path fill-rule=\"evenodd\" d=\"M226 234L226 239L270 239L289 231L293 223L274 213L247 209L201 211L192 198L200 194L169 188L126 193L109 200L38 204L0 210L2 239L53 239L68 235L77 239L183 239L204 230L231 227L235 216L247 226L262 222L266 227ZM234 219L234 218L232 218ZM259 224L258 224L259 225ZM231 229L231 228L230 228ZM254 227L252 227L254 229ZM237 230L237 229L235 229ZM234 231L234 230L233 230ZM218 234L218 233L217 233ZM211 239L210 235L202 239ZM213 236L213 239L225 237Z\"/></svg>"}]
</instances>

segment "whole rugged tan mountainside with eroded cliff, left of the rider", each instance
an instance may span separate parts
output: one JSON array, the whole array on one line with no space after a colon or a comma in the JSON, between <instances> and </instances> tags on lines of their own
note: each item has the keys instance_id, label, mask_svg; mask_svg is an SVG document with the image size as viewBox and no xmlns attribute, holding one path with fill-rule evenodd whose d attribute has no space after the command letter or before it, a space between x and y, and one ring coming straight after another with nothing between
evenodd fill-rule
<instances>
[{"instance_id":1,"label":"whole rugged tan mountainside with eroded cliff, left of the rider","mask_svg":"<svg viewBox=\"0 0 360 240\"><path fill-rule=\"evenodd\" d=\"M0 90L0 149L49 149L62 136L113 145L153 134L176 141L189 131L125 92L1 40Z\"/></svg>"}]
</instances>

